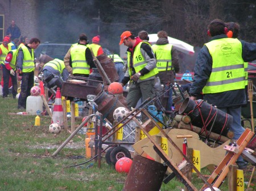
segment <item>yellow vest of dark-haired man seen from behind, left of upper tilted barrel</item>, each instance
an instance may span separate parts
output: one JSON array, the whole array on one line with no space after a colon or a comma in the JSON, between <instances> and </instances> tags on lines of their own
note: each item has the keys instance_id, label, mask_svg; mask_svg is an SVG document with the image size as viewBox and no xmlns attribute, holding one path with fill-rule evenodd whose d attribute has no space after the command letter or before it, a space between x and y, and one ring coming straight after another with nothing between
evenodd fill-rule
<instances>
[{"instance_id":1,"label":"yellow vest of dark-haired man seen from behind, left of upper tilted barrel","mask_svg":"<svg viewBox=\"0 0 256 191\"><path fill-rule=\"evenodd\" d=\"M81 44L76 44L71 47L73 74L90 74L90 67L85 58L85 50L87 48L87 46Z\"/></svg>"}]
</instances>

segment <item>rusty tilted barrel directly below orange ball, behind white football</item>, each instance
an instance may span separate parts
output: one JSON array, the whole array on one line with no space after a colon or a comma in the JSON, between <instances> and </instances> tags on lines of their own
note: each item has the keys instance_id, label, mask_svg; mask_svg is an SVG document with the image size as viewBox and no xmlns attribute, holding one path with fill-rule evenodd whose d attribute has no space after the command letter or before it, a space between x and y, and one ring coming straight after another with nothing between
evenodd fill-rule
<instances>
[{"instance_id":1,"label":"rusty tilted barrel directly below orange ball, behind white football","mask_svg":"<svg viewBox=\"0 0 256 191\"><path fill-rule=\"evenodd\" d=\"M98 112L102 113L112 124L114 122L113 113L119 107L125 107L117 97L108 95L105 91L101 91L93 100L97 104Z\"/></svg>"}]
</instances>

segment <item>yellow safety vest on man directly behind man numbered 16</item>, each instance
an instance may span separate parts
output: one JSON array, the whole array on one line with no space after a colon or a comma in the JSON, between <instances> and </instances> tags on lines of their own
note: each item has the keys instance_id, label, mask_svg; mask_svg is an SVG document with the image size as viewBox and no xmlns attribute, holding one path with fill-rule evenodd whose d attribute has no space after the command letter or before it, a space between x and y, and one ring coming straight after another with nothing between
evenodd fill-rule
<instances>
[{"instance_id":1,"label":"yellow safety vest on man directly behind man numbered 16","mask_svg":"<svg viewBox=\"0 0 256 191\"><path fill-rule=\"evenodd\" d=\"M163 45L152 45L152 49L156 56L156 66L158 67L158 71L166 71L171 70L172 68L172 45L171 44L163 44ZM167 67L168 63L168 67ZM167 68L166 68L167 67Z\"/></svg>"}]
</instances>

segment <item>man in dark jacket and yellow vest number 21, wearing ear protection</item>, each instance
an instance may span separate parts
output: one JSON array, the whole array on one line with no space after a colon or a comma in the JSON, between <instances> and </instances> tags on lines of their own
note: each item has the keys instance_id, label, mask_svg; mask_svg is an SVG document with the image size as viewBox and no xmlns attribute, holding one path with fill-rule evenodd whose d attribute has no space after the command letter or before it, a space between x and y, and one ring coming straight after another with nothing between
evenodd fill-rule
<instances>
[{"instance_id":1,"label":"man in dark jacket and yellow vest number 21, wearing ear protection","mask_svg":"<svg viewBox=\"0 0 256 191\"><path fill-rule=\"evenodd\" d=\"M243 63L256 59L256 44L228 38L228 29L219 19L213 20L208 29L212 38L197 57L191 99L195 100L203 91L209 104L232 115L230 130L234 132L234 139L238 139L245 130L241 126L241 105L246 104ZM240 168L246 167L241 157L237 164Z\"/></svg>"}]
</instances>

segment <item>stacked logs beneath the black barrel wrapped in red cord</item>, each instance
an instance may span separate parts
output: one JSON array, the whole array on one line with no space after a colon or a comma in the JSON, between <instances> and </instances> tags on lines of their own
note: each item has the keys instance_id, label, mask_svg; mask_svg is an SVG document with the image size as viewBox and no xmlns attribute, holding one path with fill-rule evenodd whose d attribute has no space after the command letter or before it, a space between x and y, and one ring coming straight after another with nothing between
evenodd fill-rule
<instances>
[{"instance_id":1,"label":"stacked logs beneath the black barrel wrapped in red cord","mask_svg":"<svg viewBox=\"0 0 256 191\"><path fill-rule=\"evenodd\" d=\"M174 117L174 120L172 120L172 127L176 129L187 129L187 130L193 130L195 133L199 134L201 131L201 128L191 125L191 118L189 116L183 116L181 114L177 114ZM233 133L228 133L228 137L232 138ZM202 137L207 137L205 134L205 131L201 134ZM218 140L220 137L217 133L210 133L209 138L213 140ZM221 143L224 143L228 141L230 138L221 136L220 141Z\"/></svg>"}]
</instances>

